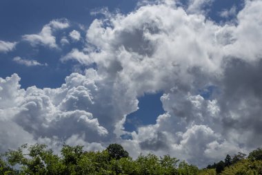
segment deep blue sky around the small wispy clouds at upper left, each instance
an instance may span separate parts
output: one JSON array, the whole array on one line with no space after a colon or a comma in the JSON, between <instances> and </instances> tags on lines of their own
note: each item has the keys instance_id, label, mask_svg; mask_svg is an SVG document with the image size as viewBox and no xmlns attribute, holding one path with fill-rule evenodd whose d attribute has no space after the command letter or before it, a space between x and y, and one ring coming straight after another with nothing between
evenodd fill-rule
<instances>
[{"instance_id":1,"label":"deep blue sky around the small wispy clouds at upper left","mask_svg":"<svg viewBox=\"0 0 262 175\"><path fill-rule=\"evenodd\" d=\"M57 1L0 1L0 40L8 42L19 42L16 48L9 53L0 53L0 77L7 77L17 73L21 77L21 87L37 86L39 88L56 88L65 82L65 77L85 68L95 68L95 65L83 66L74 61L61 62L59 59L69 53L72 48L83 49L85 31L97 16L90 12L101 8L108 8L111 12L119 10L128 13L137 6L137 0L130 1L103 1L103 0L57 0ZM57 30L54 33L59 48L48 46L31 46L22 40L23 35L38 34L44 25L53 19L68 19L70 27ZM85 26L83 30L79 24ZM81 40L72 41L69 33L77 30L81 33ZM70 44L61 46L61 39L66 37ZM14 57L22 59L34 59L48 66L25 66L13 62Z\"/></svg>"}]
</instances>

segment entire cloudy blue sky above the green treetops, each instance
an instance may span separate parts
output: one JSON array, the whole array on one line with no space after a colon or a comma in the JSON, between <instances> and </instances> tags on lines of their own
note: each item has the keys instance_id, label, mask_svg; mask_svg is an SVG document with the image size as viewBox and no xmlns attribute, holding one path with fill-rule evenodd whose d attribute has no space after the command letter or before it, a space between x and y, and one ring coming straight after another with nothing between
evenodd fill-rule
<instances>
[{"instance_id":1,"label":"entire cloudy blue sky above the green treetops","mask_svg":"<svg viewBox=\"0 0 262 175\"><path fill-rule=\"evenodd\" d=\"M261 147L261 9L0 0L0 151L116 142L205 167Z\"/></svg>"}]
</instances>

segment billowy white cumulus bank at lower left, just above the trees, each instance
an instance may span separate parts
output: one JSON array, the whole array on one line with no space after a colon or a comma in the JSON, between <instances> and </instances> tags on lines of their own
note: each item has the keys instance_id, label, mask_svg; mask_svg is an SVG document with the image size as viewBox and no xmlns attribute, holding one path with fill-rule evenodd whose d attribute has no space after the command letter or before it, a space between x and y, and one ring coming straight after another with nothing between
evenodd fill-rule
<instances>
[{"instance_id":1,"label":"billowy white cumulus bank at lower left, just above the trees","mask_svg":"<svg viewBox=\"0 0 262 175\"><path fill-rule=\"evenodd\" d=\"M24 90L20 89L19 80L16 74L0 79L0 113L3 116L1 124L13 126L14 131L1 132L1 138L8 139L12 135L14 138L20 137L13 142L4 142L1 145L2 151L6 149L6 145L14 148L23 142L33 143L43 138L69 142L70 138L72 140L73 136L81 134L81 138L85 140L98 141L108 135L108 130L102 127L99 120L85 107L85 101L86 104L92 104L88 96L88 87L92 89L92 82L86 82L85 87L81 85L83 82L79 82L79 88L74 91L74 87L70 89L69 84L77 83L77 80L71 82L68 77L68 87L66 84L61 89L37 89L32 86ZM81 91L81 88L85 88L85 91ZM68 90L71 93L68 93ZM82 103L82 107L77 107L78 103ZM72 106L68 107L68 104ZM96 145L95 142L92 145Z\"/></svg>"}]
</instances>

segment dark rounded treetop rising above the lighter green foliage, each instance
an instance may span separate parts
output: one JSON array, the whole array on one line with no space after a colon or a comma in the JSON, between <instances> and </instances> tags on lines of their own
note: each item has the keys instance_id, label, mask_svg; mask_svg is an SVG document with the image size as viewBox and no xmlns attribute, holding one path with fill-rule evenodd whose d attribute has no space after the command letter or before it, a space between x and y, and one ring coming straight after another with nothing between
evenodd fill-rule
<instances>
[{"instance_id":1,"label":"dark rounded treetop rising above the lighter green foliage","mask_svg":"<svg viewBox=\"0 0 262 175\"><path fill-rule=\"evenodd\" d=\"M120 158L128 158L128 151L125 151L123 147L117 143L110 144L106 150L108 150L108 154L110 158L115 158L119 160Z\"/></svg>"}]
</instances>

